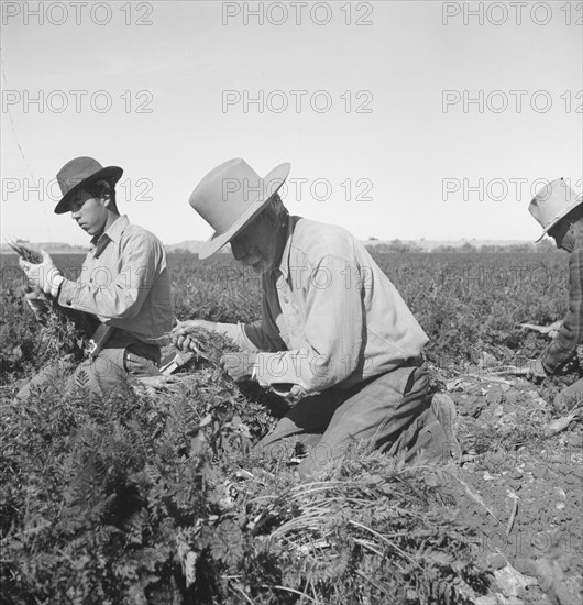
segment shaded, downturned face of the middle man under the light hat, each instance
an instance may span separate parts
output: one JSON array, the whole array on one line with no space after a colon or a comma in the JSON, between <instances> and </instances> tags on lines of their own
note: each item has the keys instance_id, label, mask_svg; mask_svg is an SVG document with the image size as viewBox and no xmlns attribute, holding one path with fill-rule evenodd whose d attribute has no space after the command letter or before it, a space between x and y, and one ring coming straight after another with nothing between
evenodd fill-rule
<instances>
[{"instance_id":1,"label":"shaded, downturned face of the middle man under the light hat","mask_svg":"<svg viewBox=\"0 0 583 605\"><path fill-rule=\"evenodd\" d=\"M275 265L276 237L266 217L261 213L231 240L235 261L262 274Z\"/></svg>"}]
</instances>

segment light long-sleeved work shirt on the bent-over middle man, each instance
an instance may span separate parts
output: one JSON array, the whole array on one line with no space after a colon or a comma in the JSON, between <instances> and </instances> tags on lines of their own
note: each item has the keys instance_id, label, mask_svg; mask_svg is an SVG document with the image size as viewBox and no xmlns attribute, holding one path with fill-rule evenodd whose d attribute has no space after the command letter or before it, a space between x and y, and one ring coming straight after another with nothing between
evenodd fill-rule
<instances>
[{"instance_id":1,"label":"light long-sleeved work shirt on the bent-over middle man","mask_svg":"<svg viewBox=\"0 0 583 605\"><path fill-rule=\"evenodd\" d=\"M279 266L262 282L262 319L217 329L258 353L260 384L293 398L391 372L428 342L369 251L340 227L290 217Z\"/></svg>"}]
</instances>

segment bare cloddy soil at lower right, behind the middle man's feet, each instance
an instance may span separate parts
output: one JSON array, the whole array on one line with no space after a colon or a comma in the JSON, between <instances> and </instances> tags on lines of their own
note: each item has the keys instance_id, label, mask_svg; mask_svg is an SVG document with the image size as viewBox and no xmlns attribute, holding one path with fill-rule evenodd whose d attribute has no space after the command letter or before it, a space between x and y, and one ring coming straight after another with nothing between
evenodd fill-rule
<instances>
[{"instance_id":1,"label":"bare cloddy soil at lower right, behind the middle man's feet","mask_svg":"<svg viewBox=\"0 0 583 605\"><path fill-rule=\"evenodd\" d=\"M540 387L482 366L441 384L462 449L451 493L494 576L480 605L583 603L583 410L553 404L576 380Z\"/></svg>"}]
</instances>

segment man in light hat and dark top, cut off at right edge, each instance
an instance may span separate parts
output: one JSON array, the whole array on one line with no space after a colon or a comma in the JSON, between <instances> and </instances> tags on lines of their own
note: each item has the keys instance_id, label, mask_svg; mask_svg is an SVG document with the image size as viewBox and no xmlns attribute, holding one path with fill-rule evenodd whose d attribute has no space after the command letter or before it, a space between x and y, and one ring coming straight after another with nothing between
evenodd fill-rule
<instances>
[{"instance_id":1,"label":"man in light hat and dark top, cut off at right edge","mask_svg":"<svg viewBox=\"0 0 583 605\"><path fill-rule=\"evenodd\" d=\"M532 364L528 377L540 382L558 372L583 343L583 198L562 178L550 182L532 199L530 213L557 248L571 254L569 258L569 310L550 344ZM583 360L581 360L583 363ZM556 403L574 407L583 400L583 380L559 394Z\"/></svg>"}]
</instances>

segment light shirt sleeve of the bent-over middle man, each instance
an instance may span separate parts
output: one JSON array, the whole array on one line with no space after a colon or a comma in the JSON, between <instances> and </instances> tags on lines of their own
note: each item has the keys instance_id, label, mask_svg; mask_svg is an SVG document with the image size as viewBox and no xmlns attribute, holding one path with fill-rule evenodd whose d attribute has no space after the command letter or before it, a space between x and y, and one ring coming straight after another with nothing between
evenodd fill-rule
<instances>
[{"instance_id":1,"label":"light shirt sleeve of the bent-over middle man","mask_svg":"<svg viewBox=\"0 0 583 605\"><path fill-rule=\"evenodd\" d=\"M363 363L362 280L346 280L348 262L328 255L304 274L304 337L298 350L257 355L260 383L297 385L301 395L337 385ZM298 388L296 388L296 392Z\"/></svg>"}]
</instances>

